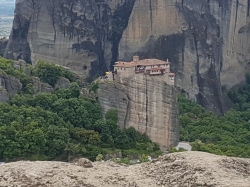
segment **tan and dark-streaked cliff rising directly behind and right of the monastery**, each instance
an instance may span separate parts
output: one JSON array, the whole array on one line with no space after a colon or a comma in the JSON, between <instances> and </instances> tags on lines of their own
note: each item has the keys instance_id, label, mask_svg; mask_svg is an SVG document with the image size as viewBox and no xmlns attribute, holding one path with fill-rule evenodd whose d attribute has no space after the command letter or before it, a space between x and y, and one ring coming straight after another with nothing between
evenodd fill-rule
<instances>
[{"instance_id":1,"label":"tan and dark-streaked cliff rising directly behind and right of the monastery","mask_svg":"<svg viewBox=\"0 0 250 187\"><path fill-rule=\"evenodd\" d=\"M249 72L248 0L137 0L119 54L169 58L177 85L206 108L223 113L222 86Z\"/></svg>"}]
</instances>

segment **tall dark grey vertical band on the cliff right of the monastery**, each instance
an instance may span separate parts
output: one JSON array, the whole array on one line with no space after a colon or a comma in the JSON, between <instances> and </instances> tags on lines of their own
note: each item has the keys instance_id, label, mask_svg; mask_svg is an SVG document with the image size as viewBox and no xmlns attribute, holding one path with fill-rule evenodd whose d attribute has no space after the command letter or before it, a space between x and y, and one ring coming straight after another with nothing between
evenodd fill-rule
<instances>
[{"instance_id":1,"label":"tall dark grey vertical band on the cliff right of the monastery","mask_svg":"<svg viewBox=\"0 0 250 187\"><path fill-rule=\"evenodd\" d=\"M199 104L217 114L223 114L227 108L224 106L220 85L220 71L222 67L222 38L220 28L215 18L209 12L209 6L202 4L202 12L180 7L189 27L185 33L193 40L191 49L194 49L196 59L197 94ZM185 46L185 50L190 46ZM205 67L205 68L204 68ZM213 103L213 104L211 104Z\"/></svg>"}]
</instances>

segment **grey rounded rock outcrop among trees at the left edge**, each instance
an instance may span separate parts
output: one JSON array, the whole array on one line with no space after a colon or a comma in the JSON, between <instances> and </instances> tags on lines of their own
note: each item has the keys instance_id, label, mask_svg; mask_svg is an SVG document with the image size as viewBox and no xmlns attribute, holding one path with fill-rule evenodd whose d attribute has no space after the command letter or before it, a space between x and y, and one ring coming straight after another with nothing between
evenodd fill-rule
<instances>
[{"instance_id":1,"label":"grey rounded rock outcrop among trees at the left edge","mask_svg":"<svg viewBox=\"0 0 250 187\"><path fill-rule=\"evenodd\" d=\"M18 79L0 71L0 102L9 101L9 96L16 94L22 87Z\"/></svg>"}]
</instances>

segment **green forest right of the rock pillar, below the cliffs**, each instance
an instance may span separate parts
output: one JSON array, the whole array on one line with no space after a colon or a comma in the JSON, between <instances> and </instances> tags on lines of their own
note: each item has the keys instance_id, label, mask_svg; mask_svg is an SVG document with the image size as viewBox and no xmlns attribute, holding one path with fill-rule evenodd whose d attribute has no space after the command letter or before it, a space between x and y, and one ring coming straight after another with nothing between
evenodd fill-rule
<instances>
[{"instance_id":1,"label":"green forest right of the rock pillar, below the cliffs","mask_svg":"<svg viewBox=\"0 0 250 187\"><path fill-rule=\"evenodd\" d=\"M250 76L246 84L227 92L235 108L221 117L200 105L179 97L180 139L192 143L192 150L250 158Z\"/></svg>"}]
</instances>

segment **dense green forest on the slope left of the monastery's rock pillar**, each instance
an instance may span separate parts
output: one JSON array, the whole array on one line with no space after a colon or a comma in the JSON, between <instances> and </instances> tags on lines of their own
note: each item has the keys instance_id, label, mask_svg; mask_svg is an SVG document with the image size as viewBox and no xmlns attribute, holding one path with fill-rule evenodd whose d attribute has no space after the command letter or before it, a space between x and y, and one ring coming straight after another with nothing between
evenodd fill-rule
<instances>
[{"instance_id":1,"label":"dense green forest on the slope left of the monastery's rock pillar","mask_svg":"<svg viewBox=\"0 0 250 187\"><path fill-rule=\"evenodd\" d=\"M161 154L158 145L134 128L120 129L115 110L103 117L96 99L81 95L76 77L63 68L39 61L28 75L13 61L0 58L1 73L18 78L23 89L9 103L0 103L0 160L100 159L121 151L131 154ZM53 93L35 93L31 76L54 86L60 76L72 83ZM95 91L97 83L89 89Z\"/></svg>"}]
</instances>

